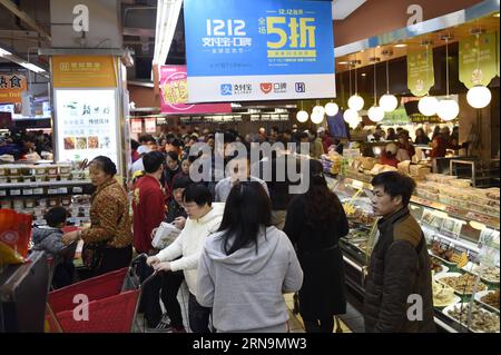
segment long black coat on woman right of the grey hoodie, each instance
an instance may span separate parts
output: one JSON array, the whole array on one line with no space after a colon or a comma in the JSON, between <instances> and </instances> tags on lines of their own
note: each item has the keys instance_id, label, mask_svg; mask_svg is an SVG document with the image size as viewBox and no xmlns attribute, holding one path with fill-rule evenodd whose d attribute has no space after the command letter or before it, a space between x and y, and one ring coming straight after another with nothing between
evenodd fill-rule
<instances>
[{"instance_id":1,"label":"long black coat on woman right of the grey hoodie","mask_svg":"<svg viewBox=\"0 0 501 355\"><path fill-rule=\"evenodd\" d=\"M341 207L337 219L315 224L305 214L306 196L295 197L287 209L284 231L296 246L304 283L299 290L303 318L320 319L346 313L343 255L338 240L348 233Z\"/></svg>"}]
</instances>

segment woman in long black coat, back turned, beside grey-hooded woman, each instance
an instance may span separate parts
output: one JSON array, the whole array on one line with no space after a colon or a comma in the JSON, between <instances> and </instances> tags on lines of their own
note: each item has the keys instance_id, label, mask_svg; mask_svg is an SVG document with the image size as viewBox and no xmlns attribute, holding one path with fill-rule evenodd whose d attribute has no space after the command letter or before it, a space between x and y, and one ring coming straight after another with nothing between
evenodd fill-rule
<instances>
[{"instance_id":1,"label":"woman in long black coat, back turned, beside grey-hooded woman","mask_svg":"<svg viewBox=\"0 0 501 355\"><path fill-rule=\"evenodd\" d=\"M284 231L297 250L304 270L299 314L308 333L332 333L334 315L346 312L343 256L338 240L348 223L332 193L322 164L310 161L310 189L288 206Z\"/></svg>"}]
</instances>

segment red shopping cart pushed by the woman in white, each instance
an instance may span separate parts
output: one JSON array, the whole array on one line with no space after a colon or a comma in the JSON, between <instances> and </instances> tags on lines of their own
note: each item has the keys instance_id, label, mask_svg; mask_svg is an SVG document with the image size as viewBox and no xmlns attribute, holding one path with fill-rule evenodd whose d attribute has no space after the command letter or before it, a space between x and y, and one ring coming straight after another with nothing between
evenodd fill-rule
<instances>
[{"instance_id":1,"label":"red shopping cart pushed by the woman in white","mask_svg":"<svg viewBox=\"0 0 501 355\"><path fill-rule=\"evenodd\" d=\"M136 273L146 254L125 267L49 293L47 333L130 333L141 292L157 273L143 283ZM87 303L88 300L88 303Z\"/></svg>"}]
</instances>

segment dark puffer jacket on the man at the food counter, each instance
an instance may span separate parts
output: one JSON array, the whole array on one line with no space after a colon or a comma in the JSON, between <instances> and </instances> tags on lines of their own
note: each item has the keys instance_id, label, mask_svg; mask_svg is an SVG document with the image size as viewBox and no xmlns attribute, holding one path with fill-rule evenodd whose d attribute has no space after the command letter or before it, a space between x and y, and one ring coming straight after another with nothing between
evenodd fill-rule
<instances>
[{"instance_id":1,"label":"dark puffer jacket on the man at the food counter","mask_svg":"<svg viewBox=\"0 0 501 355\"><path fill-rule=\"evenodd\" d=\"M365 284L365 331L435 332L430 262L419 224L403 208L381 219L377 227L380 238ZM422 297L422 317L415 317L418 303L409 297L413 294Z\"/></svg>"}]
</instances>

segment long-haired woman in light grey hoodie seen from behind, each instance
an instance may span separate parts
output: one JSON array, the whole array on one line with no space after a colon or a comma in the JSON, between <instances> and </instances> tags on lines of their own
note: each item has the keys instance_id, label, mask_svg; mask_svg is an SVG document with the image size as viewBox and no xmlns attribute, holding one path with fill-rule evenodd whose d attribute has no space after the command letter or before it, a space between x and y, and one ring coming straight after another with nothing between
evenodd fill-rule
<instances>
[{"instance_id":1,"label":"long-haired woman in light grey hoodie seen from behind","mask_svg":"<svg viewBox=\"0 0 501 355\"><path fill-rule=\"evenodd\" d=\"M284 293L303 272L287 236L272 225L269 197L257 181L235 185L198 265L197 300L213 308L217 332L286 332Z\"/></svg>"}]
</instances>

